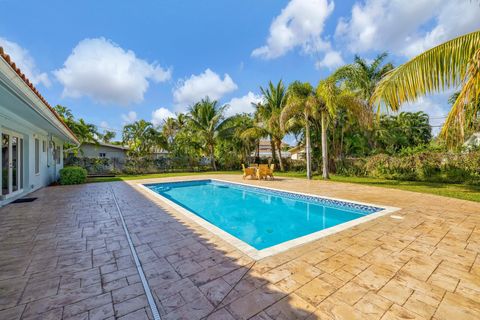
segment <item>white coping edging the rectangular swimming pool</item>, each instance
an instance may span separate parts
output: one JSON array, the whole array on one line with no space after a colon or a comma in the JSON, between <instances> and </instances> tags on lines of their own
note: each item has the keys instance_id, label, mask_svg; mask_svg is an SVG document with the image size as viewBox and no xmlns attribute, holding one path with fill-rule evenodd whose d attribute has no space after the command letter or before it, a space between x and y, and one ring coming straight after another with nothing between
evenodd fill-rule
<instances>
[{"instance_id":1,"label":"white coping edging the rectangular swimming pool","mask_svg":"<svg viewBox=\"0 0 480 320\"><path fill-rule=\"evenodd\" d=\"M195 222L196 224L200 225L201 227L205 228L206 230L210 231L214 235L220 237L227 243L233 245L236 247L238 250L241 252L245 253L248 255L250 258L254 260L261 260L263 258L267 258L270 256L273 256L275 254L278 254L280 252L284 252L287 250L290 250L292 248L307 244L309 242L313 242L315 240L324 238L326 236L338 233L340 231L352 228L354 226L357 226L359 224L365 223L367 221L374 220L376 218L385 216L387 214L391 214L393 212L396 212L400 210L400 208L397 207L391 207L391 206L385 206L385 205L376 205L372 203L366 203L366 202L359 202L359 201L353 201L353 200L346 200L346 199L340 199L340 198L333 198L333 197L327 197L327 196L320 196L316 194L311 194L311 193L303 193L303 192L297 192L297 191L290 191L290 190L285 190L285 189L277 189L277 188L271 188L271 187L265 187L265 186L258 186L258 185L250 185L246 183L240 183L240 182L232 182L228 180L222 180L222 179L214 179L214 178L203 178L203 179L185 179L185 180L175 180L175 182L190 182L190 181L203 181L203 180L210 180L210 181L218 181L218 182L223 182L223 183L229 183L229 184L237 184L241 186L246 186L246 187L253 187L253 188L260 188L260 189L266 189L266 190L271 190L271 191L280 191L280 192L287 192L287 193L292 193L292 194L297 194L297 195L302 195L302 196L308 196L308 197L314 197L314 198L320 198L320 199L327 199L327 200L334 200L334 201L341 201L341 202L347 202L347 203L353 203L353 204L358 204L358 205L363 205L363 206L371 206L371 207L377 207L377 208L382 208L383 210L380 210L378 212L370 213L367 214L363 217L350 220L341 224L338 224L336 226L320 230L317 232L313 232L292 240L285 241L283 243L271 246L266 249L255 249L248 243L236 238L235 236L231 235L230 233L222 230L221 228L215 226L214 224L208 222L207 220L201 218L200 216L196 215L195 213L185 209L184 207L180 206L179 204L176 204L175 202L165 198L164 196L156 193L152 189L148 188L146 185L149 184L162 184L162 183L169 183L168 181L162 181L162 182L141 182L141 183L136 183L138 187L140 187L143 191L146 191L148 194L153 195L155 198L160 199L162 202L165 204L169 205L170 207L174 208L176 211L181 213L183 216L185 216L187 219Z\"/></svg>"}]
</instances>

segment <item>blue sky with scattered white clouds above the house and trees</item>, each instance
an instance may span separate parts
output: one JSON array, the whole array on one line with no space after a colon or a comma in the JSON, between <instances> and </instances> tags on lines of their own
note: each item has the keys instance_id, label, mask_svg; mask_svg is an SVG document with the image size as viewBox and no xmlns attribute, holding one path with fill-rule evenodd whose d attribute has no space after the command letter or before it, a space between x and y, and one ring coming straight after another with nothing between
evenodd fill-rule
<instances>
[{"instance_id":1,"label":"blue sky with scattered white clouds above the house and trees","mask_svg":"<svg viewBox=\"0 0 480 320\"><path fill-rule=\"evenodd\" d=\"M100 127L160 124L209 95L251 111L269 80L316 84L358 53L399 64L480 28L471 0L0 0L0 46L55 105ZM438 125L448 94L420 99Z\"/></svg>"}]
</instances>

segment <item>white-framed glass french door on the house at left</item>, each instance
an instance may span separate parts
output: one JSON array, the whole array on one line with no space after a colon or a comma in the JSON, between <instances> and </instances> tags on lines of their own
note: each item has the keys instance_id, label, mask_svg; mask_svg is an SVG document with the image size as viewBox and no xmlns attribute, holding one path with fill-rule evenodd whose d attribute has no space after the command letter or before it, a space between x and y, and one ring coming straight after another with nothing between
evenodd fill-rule
<instances>
[{"instance_id":1,"label":"white-framed glass french door on the house at left","mask_svg":"<svg viewBox=\"0 0 480 320\"><path fill-rule=\"evenodd\" d=\"M2 196L23 191L23 138L11 131L2 132Z\"/></svg>"}]
</instances>

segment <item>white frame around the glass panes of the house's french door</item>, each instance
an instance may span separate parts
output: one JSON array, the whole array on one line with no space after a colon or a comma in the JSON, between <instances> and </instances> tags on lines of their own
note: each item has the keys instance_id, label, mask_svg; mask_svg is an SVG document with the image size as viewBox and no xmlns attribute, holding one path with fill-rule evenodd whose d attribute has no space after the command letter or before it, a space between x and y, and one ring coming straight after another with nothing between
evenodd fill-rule
<instances>
[{"instance_id":1,"label":"white frame around the glass panes of the house's french door","mask_svg":"<svg viewBox=\"0 0 480 320\"><path fill-rule=\"evenodd\" d=\"M21 193L23 193L23 181L22 178L25 178L25 172L24 172L24 167L25 167L25 138L24 134L13 131L10 129L6 128L1 128L0 133L7 134L8 135L8 193L7 194L2 194L1 197L2 199L9 199L12 197L15 197ZM17 190L13 191L13 163L12 163L12 140L13 137L16 137L17 140ZM0 139L0 146L3 148L3 137ZM21 150L23 149L23 150ZM3 163L2 159L3 154L0 153L0 161ZM23 174L22 174L23 173ZM1 178L3 179L3 168L1 170ZM2 180L3 181L3 180ZM2 185L3 189L3 185Z\"/></svg>"}]
</instances>

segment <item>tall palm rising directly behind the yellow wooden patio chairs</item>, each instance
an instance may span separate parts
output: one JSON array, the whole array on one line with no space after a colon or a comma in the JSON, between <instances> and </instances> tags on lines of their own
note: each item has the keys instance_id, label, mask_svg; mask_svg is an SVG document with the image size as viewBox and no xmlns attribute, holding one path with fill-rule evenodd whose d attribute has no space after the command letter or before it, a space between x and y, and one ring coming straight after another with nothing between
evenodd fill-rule
<instances>
[{"instance_id":1,"label":"tall palm rising directly behind the yellow wooden patio chairs","mask_svg":"<svg viewBox=\"0 0 480 320\"><path fill-rule=\"evenodd\" d=\"M257 105L257 116L262 123L263 129L270 135L272 143L272 158L275 159L275 149L278 150L278 164L284 171L282 160L282 140L285 132L280 126L280 115L287 101L287 92L282 80L275 86L271 81L267 88L260 87L263 95L263 103Z\"/></svg>"}]
</instances>

